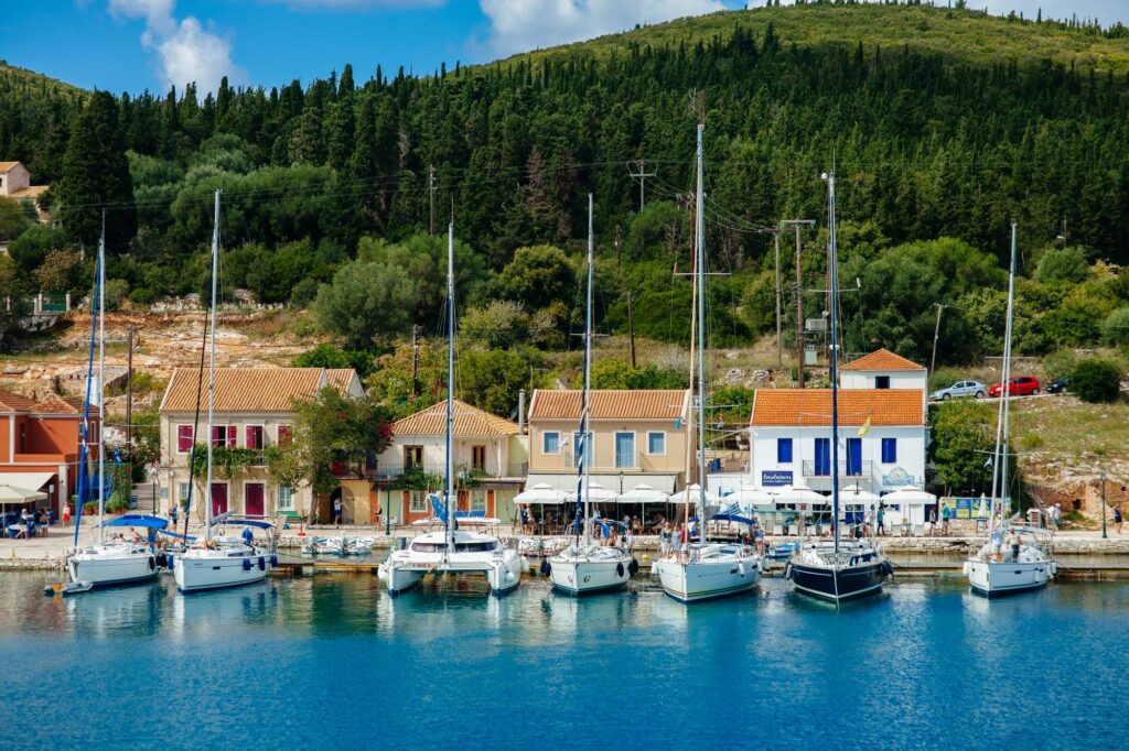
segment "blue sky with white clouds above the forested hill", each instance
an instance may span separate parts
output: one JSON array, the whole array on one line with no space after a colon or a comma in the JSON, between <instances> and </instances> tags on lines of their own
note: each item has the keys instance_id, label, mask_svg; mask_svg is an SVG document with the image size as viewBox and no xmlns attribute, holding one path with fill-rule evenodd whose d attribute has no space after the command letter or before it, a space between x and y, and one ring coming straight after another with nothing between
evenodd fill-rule
<instances>
[{"instance_id":1,"label":"blue sky with white clouds above the forested hill","mask_svg":"<svg viewBox=\"0 0 1129 751\"><path fill-rule=\"evenodd\" d=\"M351 62L358 79L484 62L742 0L25 0L6 2L0 58L85 88L164 91L220 76L305 81ZM752 5L761 5L754 2ZM972 0L992 12L1129 24L1129 0Z\"/></svg>"}]
</instances>

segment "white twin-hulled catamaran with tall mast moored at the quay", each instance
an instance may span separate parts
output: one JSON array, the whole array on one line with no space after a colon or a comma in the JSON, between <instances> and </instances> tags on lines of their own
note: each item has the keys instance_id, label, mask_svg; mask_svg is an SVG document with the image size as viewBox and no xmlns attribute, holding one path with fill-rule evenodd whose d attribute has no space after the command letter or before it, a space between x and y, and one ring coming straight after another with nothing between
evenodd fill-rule
<instances>
[{"instance_id":1,"label":"white twin-hulled catamaran with tall mast moored at the quay","mask_svg":"<svg viewBox=\"0 0 1129 751\"><path fill-rule=\"evenodd\" d=\"M455 458L452 445L455 398L455 223L447 228L447 462L443 502L432 496L443 530L413 538L403 550L393 550L377 569L388 594L400 594L429 573L482 574L493 594L510 592L522 583L522 557L502 546L491 531L458 529L457 503L453 504ZM453 507L455 506L455 507Z\"/></svg>"}]
</instances>

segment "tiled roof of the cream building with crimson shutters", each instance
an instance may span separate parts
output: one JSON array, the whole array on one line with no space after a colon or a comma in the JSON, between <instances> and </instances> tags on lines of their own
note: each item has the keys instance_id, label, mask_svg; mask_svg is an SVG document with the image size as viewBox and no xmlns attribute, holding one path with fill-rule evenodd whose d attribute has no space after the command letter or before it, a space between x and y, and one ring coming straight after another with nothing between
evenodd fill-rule
<instances>
[{"instance_id":1,"label":"tiled roof of the cream building with crimson shutters","mask_svg":"<svg viewBox=\"0 0 1129 751\"><path fill-rule=\"evenodd\" d=\"M160 412L194 412L200 371L177 368L165 389ZM290 412L295 398L313 398L329 386L324 368L217 368L216 412ZM208 408L208 373L200 407Z\"/></svg>"}]
</instances>

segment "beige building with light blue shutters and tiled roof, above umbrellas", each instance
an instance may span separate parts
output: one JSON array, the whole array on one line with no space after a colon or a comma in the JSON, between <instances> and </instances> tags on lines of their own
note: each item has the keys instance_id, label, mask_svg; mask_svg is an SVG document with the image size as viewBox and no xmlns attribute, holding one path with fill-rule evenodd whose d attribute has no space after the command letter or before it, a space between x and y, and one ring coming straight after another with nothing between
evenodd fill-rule
<instances>
[{"instance_id":1,"label":"beige building with light blue shutters and tiled roof, above umbrellas","mask_svg":"<svg viewBox=\"0 0 1129 751\"><path fill-rule=\"evenodd\" d=\"M530 403L527 486L548 483L575 491L580 391L533 392ZM621 493L646 484L664 493L682 488L686 469L690 392L595 390L590 392L594 481Z\"/></svg>"}]
</instances>

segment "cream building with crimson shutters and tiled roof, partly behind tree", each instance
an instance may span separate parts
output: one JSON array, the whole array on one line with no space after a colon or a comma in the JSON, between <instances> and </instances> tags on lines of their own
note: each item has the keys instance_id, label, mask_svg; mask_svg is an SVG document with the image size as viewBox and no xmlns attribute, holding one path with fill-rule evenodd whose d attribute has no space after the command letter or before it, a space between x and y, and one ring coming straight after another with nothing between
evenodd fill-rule
<instances>
[{"instance_id":1,"label":"cream building with crimson shutters and tiled roof, partly behind tree","mask_svg":"<svg viewBox=\"0 0 1129 751\"><path fill-rule=\"evenodd\" d=\"M349 398L365 396L360 378L351 369L217 369L212 445L262 451L285 443L292 436L294 399L313 399L331 386ZM160 496L166 509L180 504L183 510L191 493L192 515L202 519L200 501L207 497L205 483L198 478L193 484L189 472L198 425L200 431L207 430L208 373L178 368L160 404ZM348 472L339 472L339 476L341 487L332 496L316 500L321 505L321 520L327 521L325 516L332 507L330 498L340 494L342 521L368 523L373 515L368 480ZM211 497L213 514L233 511L254 516L303 516L310 512L315 502L308 487L283 487L273 483L265 459L240 467L231 476L227 476L224 468L213 467Z\"/></svg>"}]
</instances>

